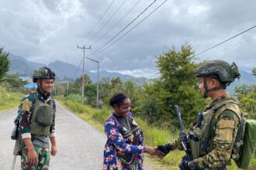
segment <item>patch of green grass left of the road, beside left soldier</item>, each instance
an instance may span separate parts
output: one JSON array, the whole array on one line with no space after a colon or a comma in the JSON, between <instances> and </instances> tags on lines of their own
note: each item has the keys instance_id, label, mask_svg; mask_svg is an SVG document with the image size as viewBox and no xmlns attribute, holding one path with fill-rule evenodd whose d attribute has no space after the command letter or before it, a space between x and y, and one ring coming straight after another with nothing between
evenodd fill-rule
<instances>
[{"instance_id":1,"label":"patch of green grass left of the road, beside left soldier","mask_svg":"<svg viewBox=\"0 0 256 170\"><path fill-rule=\"evenodd\" d=\"M0 96L0 112L12 107L19 107L19 102L24 97L22 93L7 93L5 97Z\"/></svg>"}]
</instances>

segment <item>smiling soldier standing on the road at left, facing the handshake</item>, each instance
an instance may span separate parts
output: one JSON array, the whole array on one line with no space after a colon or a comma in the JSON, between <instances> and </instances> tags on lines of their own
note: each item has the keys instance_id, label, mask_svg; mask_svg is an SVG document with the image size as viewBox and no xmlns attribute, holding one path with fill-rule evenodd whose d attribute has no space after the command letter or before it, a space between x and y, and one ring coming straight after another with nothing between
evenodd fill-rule
<instances>
[{"instance_id":1,"label":"smiling soldier standing on the road at left, facing the handshake","mask_svg":"<svg viewBox=\"0 0 256 170\"><path fill-rule=\"evenodd\" d=\"M29 93L19 106L22 137L21 169L49 169L50 154L56 155L55 102L50 97L55 73L42 67L33 73L36 92ZM51 149L50 149L51 143Z\"/></svg>"}]
</instances>

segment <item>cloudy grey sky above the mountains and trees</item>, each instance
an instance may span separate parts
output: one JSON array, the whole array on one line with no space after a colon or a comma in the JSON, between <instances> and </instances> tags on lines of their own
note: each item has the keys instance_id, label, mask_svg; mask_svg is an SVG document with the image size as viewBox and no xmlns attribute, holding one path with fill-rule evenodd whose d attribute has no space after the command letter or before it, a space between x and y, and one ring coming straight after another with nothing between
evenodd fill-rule
<instances>
[{"instance_id":1,"label":"cloudy grey sky above the mountains and trees","mask_svg":"<svg viewBox=\"0 0 256 170\"><path fill-rule=\"evenodd\" d=\"M157 56L172 46L179 49L189 43L196 54L256 26L254 0L163 2L0 0L0 46L36 63L61 60L75 66L83 56L78 46L91 46L85 56L98 60L100 70L150 77L157 73ZM256 28L197 57L235 62L249 72L256 66L255 47ZM96 70L97 66L86 59L85 68Z\"/></svg>"}]
</instances>

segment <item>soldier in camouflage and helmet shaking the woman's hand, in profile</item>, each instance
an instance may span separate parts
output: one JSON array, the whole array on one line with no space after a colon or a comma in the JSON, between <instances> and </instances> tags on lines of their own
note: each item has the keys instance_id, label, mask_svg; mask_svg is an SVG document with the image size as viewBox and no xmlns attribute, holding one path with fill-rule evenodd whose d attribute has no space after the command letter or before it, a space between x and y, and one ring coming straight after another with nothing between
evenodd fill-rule
<instances>
[{"instance_id":1,"label":"soldier in camouflage and helmet shaking the woman's hand, in profile","mask_svg":"<svg viewBox=\"0 0 256 170\"><path fill-rule=\"evenodd\" d=\"M212 103L202 113L201 125L195 125L189 135L189 147L193 161L185 157L181 169L227 169L230 158L236 158L237 145L234 145L242 114L236 97L230 97L226 87L240 77L235 63L231 65L223 60L203 63L195 71L199 77L199 89L203 97L210 97ZM180 149L179 139L158 149L168 154Z\"/></svg>"}]
</instances>

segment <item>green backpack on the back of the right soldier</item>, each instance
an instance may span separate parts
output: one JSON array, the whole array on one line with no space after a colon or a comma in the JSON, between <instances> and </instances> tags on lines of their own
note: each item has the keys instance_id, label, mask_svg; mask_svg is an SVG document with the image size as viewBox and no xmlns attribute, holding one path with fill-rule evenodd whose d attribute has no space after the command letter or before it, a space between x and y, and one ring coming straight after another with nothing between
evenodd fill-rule
<instances>
[{"instance_id":1,"label":"green backpack on the back of the right soldier","mask_svg":"<svg viewBox=\"0 0 256 170\"><path fill-rule=\"evenodd\" d=\"M245 127L244 131L242 130L243 126ZM237 142L239 142L237 141L238 138L242 138L243 142L240 147L239 157L233 158L234 162L238 168L249 168L256 148L256 121L243 117L234 145L237 145Z\"/></svg>"}]
</instances>

